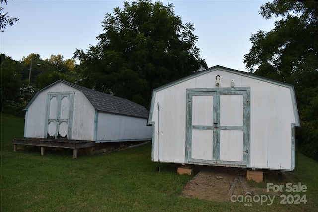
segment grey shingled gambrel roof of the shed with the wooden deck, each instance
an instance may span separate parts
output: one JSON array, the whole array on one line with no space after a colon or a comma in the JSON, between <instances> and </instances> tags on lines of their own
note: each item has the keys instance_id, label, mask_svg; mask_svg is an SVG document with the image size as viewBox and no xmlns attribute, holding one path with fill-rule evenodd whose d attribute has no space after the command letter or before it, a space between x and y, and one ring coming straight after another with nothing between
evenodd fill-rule
<instances>
[{"instance_id":1,"label":"grey shingled gambrel roof of the shed with the wooden deck","mask_svg":"<svg viewBox=\"0 0 318 212\"><path fill-rule=\"evenodd\" d=\"M134 116L134 117L140 117L140 118L148 117L147 109L144 106L141 106L135 102L132 102L128 99L124 99L114 95L92 90L86 87L82 87L80 85L73 84L71 82L64 81L64 80L58 80L52 83L51 85L39 90L31 99L31 101L26 105L24 110L28 109L28 107L32 104L34 99L38 96L38 93L42 92L43 90L49 87L52 87L53 85L59 82L62 82L64 84L67 84L71 87L74 87L80 90L97 111L115 113L115 114L121 114L121 115L127 115L127 116Z\"/></svg>"}]
</instances>

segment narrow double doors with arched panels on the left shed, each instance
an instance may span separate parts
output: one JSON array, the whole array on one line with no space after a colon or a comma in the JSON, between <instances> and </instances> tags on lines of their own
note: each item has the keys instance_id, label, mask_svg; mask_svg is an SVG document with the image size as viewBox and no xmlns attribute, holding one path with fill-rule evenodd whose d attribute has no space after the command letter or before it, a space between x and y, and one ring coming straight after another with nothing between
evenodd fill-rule
<instances>
[{"instance_id":1,"label":"narrow double doors with arched panels on the left shed","mask_svg":"<svg viewBox=\"0 0 318 212\"><path fill-rule=\"evenodd\" d=\"M49 93L47 100L47 138L70 139L74 93Z\"/></svg>"}]
</instances>

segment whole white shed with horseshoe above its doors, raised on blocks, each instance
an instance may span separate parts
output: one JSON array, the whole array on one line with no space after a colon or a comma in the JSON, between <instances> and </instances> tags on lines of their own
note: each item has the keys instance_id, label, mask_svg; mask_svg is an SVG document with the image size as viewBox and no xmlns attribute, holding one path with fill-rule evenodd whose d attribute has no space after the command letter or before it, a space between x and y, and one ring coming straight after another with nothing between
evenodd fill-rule
<instances>
[{"instance_id":1,"label":"whole white shed with horseshoe above its doors, raised on blocks","mask_svg":"<svg viewBox=\"0 0 318 212\"><path fill-rule=\"evenodd\" d=\"M294 87L214 66L153 90L152 161L293 170Z\"/></svg>"}]
</instances>

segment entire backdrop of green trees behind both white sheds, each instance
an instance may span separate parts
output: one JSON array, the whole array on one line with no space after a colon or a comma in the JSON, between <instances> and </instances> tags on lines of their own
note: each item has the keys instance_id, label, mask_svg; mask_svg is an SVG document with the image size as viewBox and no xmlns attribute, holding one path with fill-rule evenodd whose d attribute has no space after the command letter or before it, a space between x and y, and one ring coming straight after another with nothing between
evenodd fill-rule
<instances>
[{"instance_id":1,"label":"entire backdrop of green trees behind both white sheds","mask_svg":"<svg viewBox=\"0 0 318 212\"><path fill-rule=\"evenodd\" d=\"M253 74L294 85L301 119L296 148L318 159L318 1L274 0L260 7L260 15L278 20L271 31L251 36L243 62ZM172 4L125 2L105 15L102 28L97 45L76 49L72 59L32 53L15 61L1 54L1 111L21 110L58 79L149 108L154 88L206 66L194 25L182 23Z\"/></svg>"}]
</instances>

